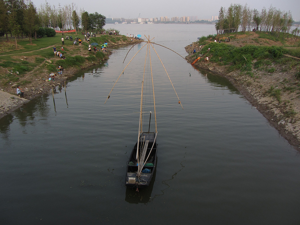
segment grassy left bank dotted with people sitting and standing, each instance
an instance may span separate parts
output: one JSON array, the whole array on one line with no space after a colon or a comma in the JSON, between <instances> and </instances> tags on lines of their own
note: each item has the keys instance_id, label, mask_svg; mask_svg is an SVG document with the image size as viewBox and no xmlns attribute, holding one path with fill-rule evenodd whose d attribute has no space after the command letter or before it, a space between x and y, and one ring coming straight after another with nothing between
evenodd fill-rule
<instances>
[{"instance_id":1,"label":"grassy left bank dotted with people sitting and standing","mask_svg":"<svg viewBox=\"0 0 300 225\"><path fill-rule=\"evenodd\" d=\"M15 94L15 85L26 87L25 98L34 98L41 93L41 90L47 91L52 85L58 84L69 77L73 76L76 71L91 65L99 64L108 59L110 48L124 44L134 44L139 42L124 35L97 35L85 41L84 35L68 34L82 39L82 45L73 45L73 41L64 40L61 51L64 53L65 59L55 56L53 47L57 50L61 49L62 35L54 37L43 37L37 40L29 39L18 41L18 49L14 49L13 42L0 42L0 90ZM65 38L65 36L64 36ZM96 42L100 48L101 44L108 42L108 52L88 51L88 45ZM58 66L64 68L64 73L55 79L55 82L45 82L49 78L50 73L56 73Z\"/></svg>"}]
</instances>

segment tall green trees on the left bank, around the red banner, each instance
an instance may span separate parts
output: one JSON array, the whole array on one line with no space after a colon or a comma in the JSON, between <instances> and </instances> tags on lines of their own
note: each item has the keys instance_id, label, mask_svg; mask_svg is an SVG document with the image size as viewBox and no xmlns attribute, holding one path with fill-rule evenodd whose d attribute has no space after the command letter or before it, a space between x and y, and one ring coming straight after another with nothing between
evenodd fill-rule
<instances>
[{"instance_id":1,"label":"tall green trees on the left bank, around the red banner","mask_svg":"<svg viewBox=\"0 0 300 225\"><path fill-rule=\"evenodd\" d=\"M79 32L88 30L99 31L105 25L106 17L95 12L88 13L77 9L76 4L51 6L47 1L39 8L35 7L31 0L0 0L0 35L17 38L29 37L32 44L32 37L39 36L41 28L54 30L76 30ZM47 32L46 32L47 33ZM47 36L54 36L55 32L48 32ZM42 35L43 36L43 35Z\"/></svg>"}]
</instances>

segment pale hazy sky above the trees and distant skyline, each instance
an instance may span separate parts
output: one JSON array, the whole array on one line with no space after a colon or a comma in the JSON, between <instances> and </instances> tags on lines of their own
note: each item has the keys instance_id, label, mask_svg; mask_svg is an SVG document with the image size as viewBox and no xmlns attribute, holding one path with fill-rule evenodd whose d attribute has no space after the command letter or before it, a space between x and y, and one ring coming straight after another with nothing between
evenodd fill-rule
<instances>
[{"instance_id":1,"label":"pale hazy sky above the trees and distant skyline","mask_svg":"<svg viewBox=\"0 0 300 225\"><path fill-rule=\"evenodd\" d=\"M45 0L32 0L37 8L41 4L45 3ZM208 0L208 1L162 1L162 0L150 0L150 1L124 1L124 0L110 0L110 1L79 1L79 0L52 0L48 3L58 6L72 4L74 2L76 6L84 9L88 13L98 12L107 18L111 17L124 17L124 18L137 18L141 13L141 18L153 18L168 16L198 16L198 19L211 19L211 16L217 16L219 14L220 7L226 9L232 4L248 4L251 9L261 10L262 7L267 9L272 4L276 9L291 11L293 19L300 21L300 1L299 0L252 0L252 1L232 1L232 0Z\"/></svg>"}]
</instances>

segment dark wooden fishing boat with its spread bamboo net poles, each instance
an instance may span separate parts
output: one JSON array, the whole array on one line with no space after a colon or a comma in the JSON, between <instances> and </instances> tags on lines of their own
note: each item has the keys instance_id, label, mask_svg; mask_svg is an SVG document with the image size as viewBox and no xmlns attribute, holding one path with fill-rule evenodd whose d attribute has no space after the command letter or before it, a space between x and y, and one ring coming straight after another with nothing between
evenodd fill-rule
<instances>
[{"instance_id":1,"label":"dark wooden fishing boat with its spread bamboo net poles","mask_svg":"<svg viewBox=\"0 0 300 225\"><path fill-rule=\"evenodd\" d=\"M139 112L140 118L139 118L137 143L134 145L134 147L132 149L131 155L130 155L128 163L127 163L126 175L125 175L125 185L127 187L133 187L133 188L148 187L152 180L153 174L155 173L156 165L157 165L158 144L156 142L156 138L157 138L158 132L157 132L157 124L156 124L155 94L154 94L150 48L152 48L155 51L157 56L158 56L158 53L156 52L156 50L154 48L154 44L156 44L156 43L151 42L150 37L147 39L148 39L147 42L143 41L143 42L146 42L147 44L145 44L143 47L141 47L140 50L138 51L138 52L140 52L145 46L147 46L143 80L142 80L142 85L141 85L142 87L141 87L141 100L140 100L140 112ZM160 44L157 44L157 45L160 45ZM160 46L162 46L162 45L160 45ZM133 47L134 46L132 46L131 49ZM165 47L165 46L163 46L163 47ZM169 49L169 50L171 50L171 49ZM129 51L130 51L130 49L129 49ZM173 51L173 50L171 50L171 51ZM138 52L134 55L134 57L138 54ZM175 53L178 54L177 52L175 52ZM158 56L158 58L159 58L159 56ZM150 65L149 70L145 69L146 68L146 59L148 59L150 61L150 63L147 63L147 65ZM130 62L131 62L131 60L130 60ZM159 60L161 61L160 58L159 58ZM124 61L125 61L125 59L124 59ZM130 64L130 62L127 64L127 66ZM161 64L163 65L162 61L161 61ZM127 68L127 66L124 68L124 70ZM163 65L163 67L164 67L164 65ZM123 74L124 70L122 71L120 76ZM167 73L167 70L165 69L165 67L164 67L164 70ZM150 72L148 73L147 71L151 71L151 73ZM120 78L120 76L119 76L119 78ZM145 76L151 77L151 79L148 79L148 80L151 80L151 82L152 82L151 97L149 97L149 96L148 97L149 97L149 99L150 98L153 99L153 101L151 101L151 102L153 103L153 106L154 106L153 109L154 109L154 119L155 119L155 132L150 132L152 111L149 111L149 113L150 113L149 126L143 125L144 121L146 122L148 120L148 119L144 118L146 113L148 113L148 112L143 112L143 109L145 109L145 102L146 102L145 100L148 99L148 97L146 98L146 95L147 95L146 93L148 91L145 91L145 93L144 93L144 80L147 80ZM170 76L168 73L167 73L167 76L169 77L169 80L171 82L171 79L170 79ZM113 88L116 85L116 83L118 82L119 78L116 80L115 84L113 85ZM171 82L171 84L172 84L172 82ZM173 84L172 84L172 86L173 86ZM110 91L110 94L113 91L113 88ZM175 91L174 86L173 86L173 89ZM176 91L175 91L175 93L176 93ZM108 95L106 101L110 98L110 94ZM176 95L177 95L177 93L176 93ZM178 95L177 95L177 98L179 100ZM105 101L105 103L106 103L106 101ZM182 107L180 100L178 103ZM183 109L183 107L182 107L182 109ZM146 130L148 130L148 131L144 131L145 127L146 127Z\"/></svg>"}]
</instances>

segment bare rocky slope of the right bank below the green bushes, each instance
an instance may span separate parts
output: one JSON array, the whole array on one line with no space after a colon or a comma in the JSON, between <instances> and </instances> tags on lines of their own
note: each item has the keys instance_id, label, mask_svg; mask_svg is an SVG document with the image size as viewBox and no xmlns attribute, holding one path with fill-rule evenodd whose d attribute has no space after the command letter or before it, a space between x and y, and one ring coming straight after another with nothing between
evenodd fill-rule
<instances>
[{"instance_id":1,"label":"bare rocky slope of the right bank below the green bushes","mask_svg":"<svg viewBox=\"0 0 300 225\"><path fill-rule=\"evenodd\" d=\"M192 55L194 48L200 50L196 43L185 47L189 53L186 59L190 62L196 58ZM204 61L204 58L194 66L226 77L292 146L300 150L300 81L295 78L296 68L291 62L272 62L263 69L253 68L249 75L240 70L229 73L228 67Z\"/></svg>"}]
</instances>

